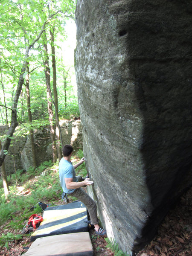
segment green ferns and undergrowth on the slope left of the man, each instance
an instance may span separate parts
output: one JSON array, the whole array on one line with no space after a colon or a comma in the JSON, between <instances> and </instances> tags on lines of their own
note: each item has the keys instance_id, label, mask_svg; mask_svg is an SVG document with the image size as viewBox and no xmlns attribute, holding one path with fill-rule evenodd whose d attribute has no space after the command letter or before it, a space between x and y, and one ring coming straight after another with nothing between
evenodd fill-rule
<instances>
[{"instance_id":1,"label":"green ferns and undergrowth on the slope left of the man","mask_svg":"<svg viewBox=\"0 0 192 256\"><path fill-rule=\"evenodd\" d=\"M42 172L47 166L45 175L36 176L38 172ZM58 172L53 172L51 160L45 161L37 169L29 168L25 173L18 170L20 173L20 182L23 182L23 190L29 190L29 194L18 192L15 186L14 175L12 175L13 186L9 186L10 194L8 195L7 203L3 188L0 189L0 225L10 220L9 225L15 228L21 228L23 221L26 221L32 213L41 212L41 208L34 208L34 212L30 211L32 206L35 206L39 201L44 203L58 200L61 198L61 185ZM29 173L28 173L29 172ZM33 178L32 178L33 177ZM31 180L30 180L31 179ZM22 185L20 183L20 185ZM22 212L22 218L17 218L17 212Z\"/></svg>"}]
</instances>

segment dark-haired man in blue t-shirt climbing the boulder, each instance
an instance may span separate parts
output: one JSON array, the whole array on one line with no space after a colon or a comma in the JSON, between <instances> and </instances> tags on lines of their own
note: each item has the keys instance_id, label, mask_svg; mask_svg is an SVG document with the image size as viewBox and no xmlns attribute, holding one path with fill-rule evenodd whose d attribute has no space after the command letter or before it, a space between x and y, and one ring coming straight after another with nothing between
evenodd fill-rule
<instances>
[{"instance_id":1,"label":"dark-haired man in blue t-shirt climbing the boulder","mask_svg":"<svg viewBox=\"0 0 192 256\"><path fill-rule=\"evenodd\" d=\"M61 187L64 193L70 194L79 199L86 207L90 215L91 224L95 226L96 234L104 236L106 230L99 227L99 219L97 218L96 203L92 198L82 189L82 186L90 186L93 181L90 179L83 179L81 176L76 177L75 169L84 162L84 158L81 158L79 163L74 166L70 162L73 154L73 147L71 145L64 145L63 155L64 157L59 162L59 177Z\"/></svg>"}]
</instances>

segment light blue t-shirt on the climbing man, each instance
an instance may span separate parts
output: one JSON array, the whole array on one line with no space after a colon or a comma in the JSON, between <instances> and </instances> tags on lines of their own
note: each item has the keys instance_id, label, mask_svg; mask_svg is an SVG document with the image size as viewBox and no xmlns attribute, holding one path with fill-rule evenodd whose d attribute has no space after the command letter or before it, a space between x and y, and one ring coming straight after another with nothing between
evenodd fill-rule
<instances>
[{"instance_id":1,"label":"light blue t-shirt on the climbing man","mask_svg":"<svg viewBox=\"0 0 192 256\"><path fill-rule=\"evenodd\" d=\"M78 182L76 178L76 172L73 167L73 164L64 158L61 158L59 162L59 178L61 182L61 187L65 193L71 194L75 189L67 189L65 184L65 178L73 178L74 182Z\"/></svg>"}]
</instances>

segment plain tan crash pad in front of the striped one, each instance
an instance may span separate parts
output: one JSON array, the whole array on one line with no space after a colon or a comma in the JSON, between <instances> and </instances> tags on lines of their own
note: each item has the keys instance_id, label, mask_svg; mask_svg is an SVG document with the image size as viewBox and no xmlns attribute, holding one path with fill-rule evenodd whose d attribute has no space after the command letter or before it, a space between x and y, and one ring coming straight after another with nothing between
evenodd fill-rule
<instances>
[{"instance_id":1,"label":"plain tan crash pad in front of the striped one","mask_svg":"<svg viewBox=\"0 0 192 256\"><path fill-rule=\"evenodd\" d=\"M88 232L36 239L23 256L93 256Z\"/></svg>"}]
</instances>

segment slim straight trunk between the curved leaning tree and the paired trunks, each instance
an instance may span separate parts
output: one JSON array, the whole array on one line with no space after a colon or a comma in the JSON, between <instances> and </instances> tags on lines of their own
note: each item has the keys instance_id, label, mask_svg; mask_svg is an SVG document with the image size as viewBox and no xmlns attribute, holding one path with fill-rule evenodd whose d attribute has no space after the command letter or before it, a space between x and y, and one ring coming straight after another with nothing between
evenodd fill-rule
<instances>
[{"instance_id":1,"label":"slim straight trunk between the curved leaning tree and the paired trunks","mask_svg":"<svg viewBox=\"0 0 192 256\"><path fill-rule=\"evenodd\" d=\"M29 122L32 123L32 113L31 113L31 102L30 102L30 92L29 92L29 63L26 65L27 75L26 75L26 95L27 95L27 109L28 109L28 118ZM37 161L36 161L36 154L35 154L35 143L34 143L34 135L33 129L29 129L30 139L31 139L31 148L32 148L32 160L33 160L33 167L36 168Z\"/></svg>"}]
</instances>

